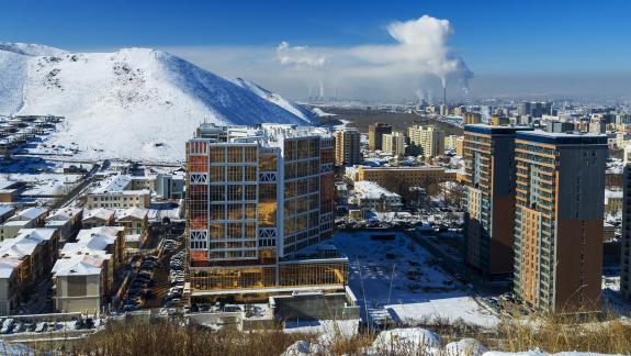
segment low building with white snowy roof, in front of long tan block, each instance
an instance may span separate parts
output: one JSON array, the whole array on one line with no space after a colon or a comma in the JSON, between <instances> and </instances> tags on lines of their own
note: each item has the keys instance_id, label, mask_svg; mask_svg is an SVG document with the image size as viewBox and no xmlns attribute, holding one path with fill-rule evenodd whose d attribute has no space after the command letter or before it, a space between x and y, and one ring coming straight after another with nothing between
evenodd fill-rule
<instances>
[{"instance_id":1,"label":"low building with white snowy roof, in front of long tan block","mask_svg":"<svg viewBox=\"0 0 631 356\"><path fill-rule=\"evenodd\" d=\"M385 212L398 211L403 208L399 194L368 180L354 182L354 194L349 202L354 203L362 211Z\"/></svg>"}]
</instances>

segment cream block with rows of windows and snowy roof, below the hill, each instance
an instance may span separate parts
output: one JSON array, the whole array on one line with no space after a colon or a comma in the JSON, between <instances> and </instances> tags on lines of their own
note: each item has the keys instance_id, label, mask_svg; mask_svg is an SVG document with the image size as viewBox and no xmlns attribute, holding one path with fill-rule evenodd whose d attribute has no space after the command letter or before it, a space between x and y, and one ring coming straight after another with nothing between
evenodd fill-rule
<instances>
[{"instance_id":1,"label":"cream block with rows of windows and snowy roof, below the hill","mask_svg":"<svg viewBox=\"0 0 631 356\"><path fill-rule=\"evenodd\" d=\"M149 208L151 191L147 187L150 181L149 178L126 175L109 177L88 194L86 208Z\"/></svg>"}]
</instances>

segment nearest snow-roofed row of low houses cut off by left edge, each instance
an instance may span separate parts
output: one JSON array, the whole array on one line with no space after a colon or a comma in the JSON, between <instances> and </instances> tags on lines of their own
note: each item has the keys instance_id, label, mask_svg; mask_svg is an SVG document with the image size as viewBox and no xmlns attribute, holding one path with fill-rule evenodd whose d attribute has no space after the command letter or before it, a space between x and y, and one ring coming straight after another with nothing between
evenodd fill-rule
<instances>
[{"instance_id":1,"label":"nearest snow-roofed row of low houses cut off by left edge","mask_svg":"<svg viewBox=\"0 0 631 356\"><path fill-rule=\"evenodd\" d=\"M30 287L47 276L57 258L59 235L54 229L25 229L0 243L0 314L15 312Z\"/></svg>"}]
</instances>

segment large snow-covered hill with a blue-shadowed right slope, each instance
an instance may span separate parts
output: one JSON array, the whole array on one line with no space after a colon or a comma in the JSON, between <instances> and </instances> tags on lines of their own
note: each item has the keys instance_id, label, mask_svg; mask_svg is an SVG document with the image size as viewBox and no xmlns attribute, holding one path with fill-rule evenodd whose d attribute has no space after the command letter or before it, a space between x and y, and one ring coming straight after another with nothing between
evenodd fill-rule
<instances>
[{"instance_id":1,"label":"large snow-covered hill with a blue-shadowed right slope","mask_svg":"<svg viewBox=\"0 0 631 356\"><path fill-rule=\"evenodd\" d=\"M147 48L68 53L0 44L0 114L66 116L52 141L84 158L183 159L200 122L308 124L306 109Z\"/></svg>"}]
</instances>

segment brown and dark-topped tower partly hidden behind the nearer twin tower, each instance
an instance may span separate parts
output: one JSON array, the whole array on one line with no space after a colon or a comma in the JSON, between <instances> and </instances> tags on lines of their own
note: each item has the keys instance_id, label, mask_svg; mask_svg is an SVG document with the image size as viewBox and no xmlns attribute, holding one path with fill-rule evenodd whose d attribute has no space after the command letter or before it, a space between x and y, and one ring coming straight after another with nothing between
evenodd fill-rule
<instances>
[{"instance_id":1,"label":"brown and dark-topped tower partly hidden behind the nearer twin tower","mask_svg":"<svg viewBox=\"0 0 631 356\"><path fill-rule=\"evenodd\" d=\"M488 278L510 275L515 235L515 135L527 127L465 125L465 260Z\"/></svg>"}]
</instances>

